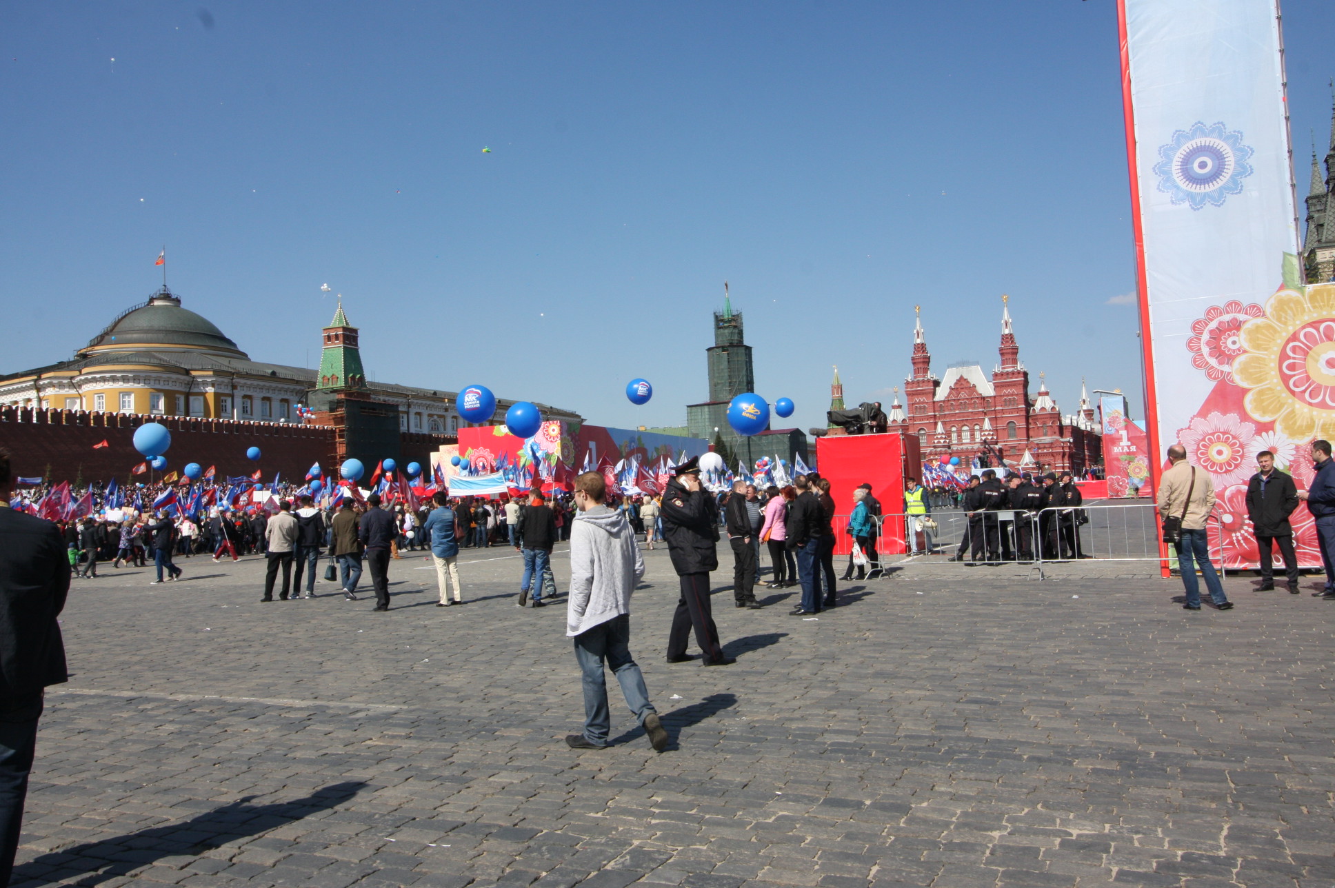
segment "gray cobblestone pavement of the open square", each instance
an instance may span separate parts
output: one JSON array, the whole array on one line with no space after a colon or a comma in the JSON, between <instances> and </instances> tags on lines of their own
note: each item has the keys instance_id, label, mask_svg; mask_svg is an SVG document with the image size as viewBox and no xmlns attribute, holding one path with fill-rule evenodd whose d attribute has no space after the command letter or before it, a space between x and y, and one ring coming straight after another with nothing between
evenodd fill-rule
<instances>
[{"instance_id":1,"label":"gray cobblestone pavement of the open square","mask_svg":"<svg viewBox=\"0 0 1335 888\"><path fill-rule=\"evenodd\" d=\"M1189 613L1125 565L909 564L801 620L792 590L734 609L725 569L738 661L704 669L663 662L677 584L646 556L631 648L661 754L614 681L614 745L565 745L563 602L515 608L511 550L463 554L462 608L391 562L388 613L323 581L260 604L256 560L76 580L15 884L1335 883L1314 581L1230 578L1236 609Z\"/></svg>"}]
</instances>

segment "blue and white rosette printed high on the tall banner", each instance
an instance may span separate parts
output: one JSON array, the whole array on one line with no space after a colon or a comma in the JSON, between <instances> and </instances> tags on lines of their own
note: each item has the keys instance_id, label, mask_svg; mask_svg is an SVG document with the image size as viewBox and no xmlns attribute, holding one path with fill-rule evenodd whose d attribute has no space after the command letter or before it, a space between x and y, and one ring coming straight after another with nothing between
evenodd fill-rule
<instances>
[{"instance_id":1,"label":"blue and white rosette printed high on the tall banner","mask_svg":"<svg viewBox=\"0 0 1335 888\"><path fill-rule=\"evenodd\" d=\"M1230 132L1223 123L1207 127L1197 120L1191 130L1177 130L1172 142L1159 147L1159 190L1192 210L1207 203L1222 206L1228 195L1243 190L1243 179L1252 174L1247 163L1251 146L1243 144L1242 132Z\"/></svg>"}]
</instances>

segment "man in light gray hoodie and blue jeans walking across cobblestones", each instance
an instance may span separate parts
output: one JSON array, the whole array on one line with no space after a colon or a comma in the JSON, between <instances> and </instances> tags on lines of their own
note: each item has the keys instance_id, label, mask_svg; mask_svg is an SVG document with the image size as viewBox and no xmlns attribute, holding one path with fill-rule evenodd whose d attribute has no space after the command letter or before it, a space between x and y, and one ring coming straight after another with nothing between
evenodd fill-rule
<instances>
[{"instance_id":1,"label":"man in light gray hoodie and blue jeans walking across cobblestones","mask_svg":"<svg viewBox=\"0 0 1335 888\"><path fill-rule=\"evenodd\" d=\"M575 515L570 530L570 601L566 636L574 638L583 672L585 729L567 734L571 749L607 745L611 716L603 662L617 676L626 705L639 718L657 752L668 746L668 730L649 702L645 677L630 656L630 593L645 576L645 560L630 522L603 505L607 487L597 471L575 478Z\"/></svg>"}]
</instances>

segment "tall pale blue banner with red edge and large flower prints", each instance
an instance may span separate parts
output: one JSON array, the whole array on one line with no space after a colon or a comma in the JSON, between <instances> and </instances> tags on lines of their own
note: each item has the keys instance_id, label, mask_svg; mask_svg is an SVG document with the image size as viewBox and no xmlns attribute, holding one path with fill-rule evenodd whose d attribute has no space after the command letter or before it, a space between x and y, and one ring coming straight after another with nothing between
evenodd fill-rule
<instances>
[{"instance_id":1,"label":"tall pale blue banner with red edge and large flower prints","mask_svg":"<svg viewBox=\"0 0 1335 888\"><path fill-rule=\"evenodd\" d=\"M1308 442L1328 421L1335 430L1335 287L1296 276L1275 1L1207 5L1119 9L1147 431L1152 462L1176 442L1210 473L1212 543L1228 568L1248 568L1256 454L1274 453L1303 489ZM1306 506L1292 521L1302 562L1319 565Z\"/></svg>"}]
</instances>

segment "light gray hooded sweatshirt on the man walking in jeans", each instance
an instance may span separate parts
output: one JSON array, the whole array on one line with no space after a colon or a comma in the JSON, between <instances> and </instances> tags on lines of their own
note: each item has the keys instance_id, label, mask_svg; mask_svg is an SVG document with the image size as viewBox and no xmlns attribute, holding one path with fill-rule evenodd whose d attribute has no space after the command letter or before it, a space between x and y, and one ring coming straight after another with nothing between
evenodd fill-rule
<instances>
[{"instance_id":1,"label":"light gray hooded sweatshirt on the man walking in jeans","mask_svg":"<svg viewBox=\"0 0 1335 888\"><path fill-rule=\"evenodd\" d=\"M635 533L619 511L594 506L570 525L570 598L566 636L630 613L630 593L645 576Z\"/></svg>"}]
</instances>

